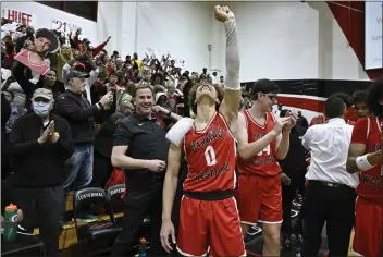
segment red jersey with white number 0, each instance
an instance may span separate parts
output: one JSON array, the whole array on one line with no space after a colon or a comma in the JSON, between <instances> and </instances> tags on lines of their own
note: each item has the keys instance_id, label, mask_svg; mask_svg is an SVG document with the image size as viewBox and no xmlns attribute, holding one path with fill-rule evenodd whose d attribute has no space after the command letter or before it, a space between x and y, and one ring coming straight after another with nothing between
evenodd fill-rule
<instances>
[{"instance_id":1,"label":"red jersey with white number 0","mask_svg":"<svg viewBox=\"0 0 383 257\"><path fill-rule=\"evenodd\" d=\"M236 140L223 115L215 112L203 131L193 126L185 135L188 174L184 191L231 191L236 185Z\"/></svg>"}]
</instances>

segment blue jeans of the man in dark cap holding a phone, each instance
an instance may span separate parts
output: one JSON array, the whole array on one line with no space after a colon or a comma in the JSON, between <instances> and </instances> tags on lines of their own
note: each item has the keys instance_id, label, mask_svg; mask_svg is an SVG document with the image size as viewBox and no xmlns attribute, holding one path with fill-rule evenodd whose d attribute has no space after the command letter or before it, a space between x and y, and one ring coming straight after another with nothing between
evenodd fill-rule
<instances>
[{"instance_id":1,"label":"blue jeans of the man in dark cap holding a phone","mask_svg":"<svg viewBox=\"0 0 383 257\"><path fill-rule=\"evenodd\" d=\"M74 147L74 152L66 160L66 174L64 181L64 208L66 197L71 189L77 191L90 184L94 176L94 146L81 145Z\"/></svg>"}]
</instances>

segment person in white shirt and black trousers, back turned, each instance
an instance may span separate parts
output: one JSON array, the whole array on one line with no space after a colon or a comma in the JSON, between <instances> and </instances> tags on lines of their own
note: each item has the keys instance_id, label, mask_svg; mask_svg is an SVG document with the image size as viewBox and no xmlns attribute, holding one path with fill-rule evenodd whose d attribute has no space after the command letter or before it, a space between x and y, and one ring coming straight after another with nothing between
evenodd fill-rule
<instances>
[{"instance_id":1,"label":"person in white shirt and black trousers, back turned","mask_svg":"<svg viewBox=\"0 0 383 257\"><path fill-rule=\"evenodd\" d=\"M355 188L359 182L357 175L346 170L353 134L353 126L345 122L346 110L341 98L328 98L324 114L329 122L310 126L302 138L304 147L311 151L311 163L306 174L301 256L318 256L325 222L329 256L348 253L355 220Z\"/></svg>"}]
</instances>

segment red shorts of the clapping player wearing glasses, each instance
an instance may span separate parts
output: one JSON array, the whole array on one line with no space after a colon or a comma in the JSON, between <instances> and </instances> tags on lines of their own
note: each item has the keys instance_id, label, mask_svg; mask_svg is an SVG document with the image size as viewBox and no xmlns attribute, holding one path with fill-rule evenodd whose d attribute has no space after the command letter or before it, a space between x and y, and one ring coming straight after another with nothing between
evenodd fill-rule
<instances>
[{"instance_id":1,"label":"red shorts of the clapping player wearing glasses","mask_svg":"<svg viewBox=\"0 0 383 257\"><path fill-rule=\"evenodd\" d=\"M236 198L240 222L282 223L281 179L239 174Z\"/></svg>"}]
</instances>

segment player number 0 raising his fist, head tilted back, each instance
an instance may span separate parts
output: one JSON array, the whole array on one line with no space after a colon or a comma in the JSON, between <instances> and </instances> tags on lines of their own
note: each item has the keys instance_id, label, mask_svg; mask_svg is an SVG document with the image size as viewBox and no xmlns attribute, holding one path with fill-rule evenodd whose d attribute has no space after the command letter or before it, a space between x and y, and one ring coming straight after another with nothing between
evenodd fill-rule
<instances>
[{"instance_id":1,"label":"player number 0 raising his fist, head tilted back","mask_svg":"<svg viewBox=\"0 0 383 257\"><path fill-rule=\"evenodd\" d=\"M215 7L215 19L224 23L226 33L224 96L217 85L195 85L189 98L196 119L189 124L184 122L187 118L182 119L166 135L171 147L163 186L161 243L168 252L172 250L169 236L175 244L171 212L183 148L188 175L184 182L176 248L184 256L203 256L208 252L210 256L246 255L234 199L236 140L233 134L240 100L236 24L226 7Z\"/></svg>"}]
</instances>

